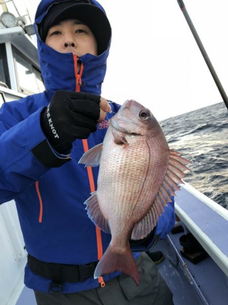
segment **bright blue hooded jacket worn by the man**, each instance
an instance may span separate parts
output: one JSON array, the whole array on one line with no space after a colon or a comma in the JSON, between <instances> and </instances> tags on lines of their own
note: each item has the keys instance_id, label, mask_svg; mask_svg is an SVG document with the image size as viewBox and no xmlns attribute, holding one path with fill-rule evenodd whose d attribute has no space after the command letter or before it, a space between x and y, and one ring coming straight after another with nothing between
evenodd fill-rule
<instances>
[{"instance_id":1,"label":"bright blue hooded jacket worn by the man","mask_svg":"<svg viewBox=\"0 0 228 305\"><path fill-rule=\"evenodd\" d=\"M41 22L53 2L55 0L40 3L35 24ZM96 1L92 2L101 8ZM40 113L49 105L57 90L75 91L73 55L51 49L38 35L37 42L46 91L5 103L0 109L0 203L15 199L30 255L53 263L87 264L96 261L98 253L95 225L88 218L84 206L84 201L90 196L87 169L83 164L78 164L84 153L83 143L76 140L70 153L71 159L67 158L51 148L40 125ZM108 52L109 47L99 56L85 54L80 58L84 64L81 91L101 94ZM116 113L120 106L113 103L111 107ZM97 131L90 135L89 148L103 142L110 117L108 114L107 121L98 124ZM96 187L98 167L93 167L92 171ZM161 237L174 224L173 202L165 209L166 213L160 217L155 229L155 235L161 234ZM138 250L150 247L154 239L138 247ZM103 252L109 242L110 235L102 232ZM104 281L117 275L107 275ZM48 292L50 283L50 280L33 274L26 266L26 286ZM93 278L82 283L64 283L63 293L98 285L98 280Z\"/></svg>"}]
</instances>

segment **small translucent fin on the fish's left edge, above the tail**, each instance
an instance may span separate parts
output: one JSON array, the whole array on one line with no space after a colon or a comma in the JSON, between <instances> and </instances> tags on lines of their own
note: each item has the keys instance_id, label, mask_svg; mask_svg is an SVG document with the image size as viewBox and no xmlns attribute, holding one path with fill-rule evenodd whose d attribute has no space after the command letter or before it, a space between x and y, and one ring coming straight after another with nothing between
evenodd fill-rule
<instances>
[{"instance_id":1,"label":"small translucent fin on the fish's left edge, above the tail","mask_svg":"<svg viewBox=\"0 0 228 305\"><path fill-rule=\"evenodd\" d=\"M105 233L110 233L108 222L101 213L98 205L97 192L91 193L91 196L84 204L86 205L87 214L94 224Z\"/></svg>"}]
</instances>

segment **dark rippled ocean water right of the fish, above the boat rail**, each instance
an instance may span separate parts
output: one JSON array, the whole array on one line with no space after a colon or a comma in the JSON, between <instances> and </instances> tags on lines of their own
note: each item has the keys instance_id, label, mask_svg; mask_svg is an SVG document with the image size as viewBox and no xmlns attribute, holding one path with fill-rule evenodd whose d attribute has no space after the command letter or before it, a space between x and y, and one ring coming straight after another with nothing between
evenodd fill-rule
<instances>
[{"instance_id":1,"label":"dark rippled ocean water right of the fish, above the boat rail","mask_svg":"<svg viewBox=\"0 0 228 305\"><path fill-rule=\"evenodd\" d=\"M192 162L183 179L228 210L228 111L224 103L160 122L169 147Z\"/></svg>"}]
</instances>

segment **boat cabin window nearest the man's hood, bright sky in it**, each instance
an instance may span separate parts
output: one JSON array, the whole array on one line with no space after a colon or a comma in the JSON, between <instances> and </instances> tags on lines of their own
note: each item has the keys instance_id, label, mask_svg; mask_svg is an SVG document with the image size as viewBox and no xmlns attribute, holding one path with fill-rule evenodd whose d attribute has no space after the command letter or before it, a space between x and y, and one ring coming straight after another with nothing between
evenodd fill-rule
<instances>
[{"instance_id":1,"label":"boat cabin window nearest the man's hood, bright sky in it","mask_svg":"<svg viewBox=\"0 0 228 305\"><path fill-rule=\"evenodd\" d=\"M24 94L33 94L45 90L41 72L13 47L15 71L18 91Z\"/></svg>"}]
</instances>

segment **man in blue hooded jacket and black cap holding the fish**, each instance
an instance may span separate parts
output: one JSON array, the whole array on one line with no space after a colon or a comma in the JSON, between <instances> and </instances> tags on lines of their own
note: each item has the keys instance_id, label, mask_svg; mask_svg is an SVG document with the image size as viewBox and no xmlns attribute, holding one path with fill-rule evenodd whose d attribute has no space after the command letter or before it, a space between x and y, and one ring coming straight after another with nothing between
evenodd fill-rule
<instances>
[{"instance_id":1,"label":"man in blue hooded jacket and black cap holding the fish","mask_svg":"<svg viewBox=\"0 0 228 305\"><path fill-rule=\"evenodd\" d=\"M119 272L93 278L110 235L83 205L96 189L98 168L78 161L103 141L106 112L110 118L120 108L100 97L111 38L103 8L95 0L42 0L34 27L46 91L0 110L0 197L16 201L28 252L25 285L38 305L173 304L155 265L139 252L170 231L173 202L144 240L130 242L138 286Z\"/></svg>"}]
</instances>

